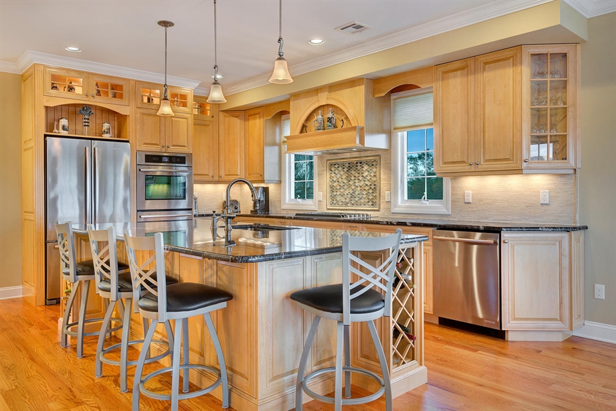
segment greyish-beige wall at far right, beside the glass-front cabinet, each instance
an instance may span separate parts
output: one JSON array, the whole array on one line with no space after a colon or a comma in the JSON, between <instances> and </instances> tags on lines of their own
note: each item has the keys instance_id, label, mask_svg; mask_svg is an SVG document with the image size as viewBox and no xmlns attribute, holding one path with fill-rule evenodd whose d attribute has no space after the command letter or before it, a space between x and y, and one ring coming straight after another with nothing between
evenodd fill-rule
<instances>
[{"instance_id":1,"label":"greyish-beige wall at far right, beside the glass-front cabinet","mask_svg":"<svg viewBox=\"0 0 616 411\"><path fill-rule=\"evenodd\" d=\"M585 234L586 319L616 325L616 13L588 21L582 43L580 221ZM593 298L605 285L605 300Z\"/></svg>"}]
</instances>

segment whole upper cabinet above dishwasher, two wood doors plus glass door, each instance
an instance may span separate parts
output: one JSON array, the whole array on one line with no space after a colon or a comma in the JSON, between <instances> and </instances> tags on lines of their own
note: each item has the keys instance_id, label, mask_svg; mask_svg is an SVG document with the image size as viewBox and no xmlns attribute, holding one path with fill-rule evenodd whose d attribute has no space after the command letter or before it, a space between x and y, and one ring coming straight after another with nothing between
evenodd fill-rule
<instances>
[{"instance_id":1,"label":"whole upper cabinet above dishwasher, two wood doors plus glass door","mask_svg":"<svg viewBox=\"0 0 616 411\"><path fill-rule=\"evenodd\" d=\"M436 66L437 175L579 166L577 61L575 45L524 46Z\"/></svg>"}]
</instances>

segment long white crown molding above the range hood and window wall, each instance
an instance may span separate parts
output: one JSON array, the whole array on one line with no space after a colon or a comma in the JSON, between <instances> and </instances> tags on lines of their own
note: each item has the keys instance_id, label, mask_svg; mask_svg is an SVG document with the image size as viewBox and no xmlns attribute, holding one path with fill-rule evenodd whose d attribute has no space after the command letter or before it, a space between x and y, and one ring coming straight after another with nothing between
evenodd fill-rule
<instances>
[{"instance_id":1,"label":"long white crown molding above the range hood and window wall","mask_svg":"<svg viewBox=\"0 0 616 411\"><path fill-rule=\"evenodd\" d=\"M356 58L361 58L365 55L377 53L378 51L392 49L393 47L405 45L409 42L422 40L422 38L437 36L438 34L450 32L454 29L459 29L461 27L466 27L469 25L480 23L482 21L487 21L491 18L504 16L506 14L518 12L519 10L525 10L527 8L532 8L543 3L549 3L550 1L552 0L535 0L524 3L522 5L513 6L511 5L511 3L515 2L508 0L492 1L490 3L487 3L486 5L481 5L471 10L465 10L463 12L453 14L452 16L439 18L438 20L411 27L395 34L391 34L389 36L376 38L375 40L372 40L370 42L364 42L361 45L349 47L348 49L344 49L343 51L339 51L337 53L324 55L321 58L316 58L309 62L294 64L290 66L289 71L291 71L292 75L294 76L302 75L311 71L324 69L335 64L340 64L348 62L350 60L354 60ZM233 95L239 92L251 90L253 88L266 86L269 84L269 77L269 74L259 75L257 77L247 79L244 82L228 86L227 95Z\"/></svg>"}]
</instances>

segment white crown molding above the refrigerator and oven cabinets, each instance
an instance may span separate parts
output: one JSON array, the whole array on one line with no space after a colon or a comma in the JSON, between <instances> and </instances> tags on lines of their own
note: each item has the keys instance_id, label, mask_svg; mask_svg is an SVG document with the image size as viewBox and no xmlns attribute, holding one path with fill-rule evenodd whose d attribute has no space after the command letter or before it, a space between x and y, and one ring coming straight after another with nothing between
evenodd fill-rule
<instances>
[{"instance_id":1,"label":"white crown molding above the refrigerator and oven cabinets","mask_svg":"<svg viewBox=\"0 0 616 411\"><path fill-rule=\"evenodd\" d=\"M8 71L9 73L23 73L29 66L34 63L44 64L47 66L60 66L65 69L82 70L90 73L99 73L103 75L111 75L114 77L126 77L136 79L143 82L164 83L165 76L161 73L153 73L151 71L143 71L137 69L128 69L127 67L114 66L112 64L91 62L89 60L81 60L78 58L64 57L49 53L40 53L40 51L27 50L17 59L16 62L0 62L0 71ZM6 66L6 70L5 70ZM12 71L11 71L12 70ZM167 76L167 84L170 86L179 86L185 88L195 88L201 84L201 80L185 79L183 77Z\"/></svg>"}]
</instances>

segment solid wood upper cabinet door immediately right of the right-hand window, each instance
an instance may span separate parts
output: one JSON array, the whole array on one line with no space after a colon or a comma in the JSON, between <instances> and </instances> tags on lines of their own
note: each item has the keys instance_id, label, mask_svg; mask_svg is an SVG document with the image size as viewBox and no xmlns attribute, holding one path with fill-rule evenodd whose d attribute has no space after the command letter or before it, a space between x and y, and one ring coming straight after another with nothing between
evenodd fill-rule
<instances>
[{"instance_id":1,"label":"solid wood upper cabinet door immediately right of the right-hand window","mask_svg":"<svg viewBox=\"0 0 616 411\"><path fill-rule=\"evenodd\" d=\"M474 58L435 68L435 171L473 171Z\"/></svg>"}]
</instances>

